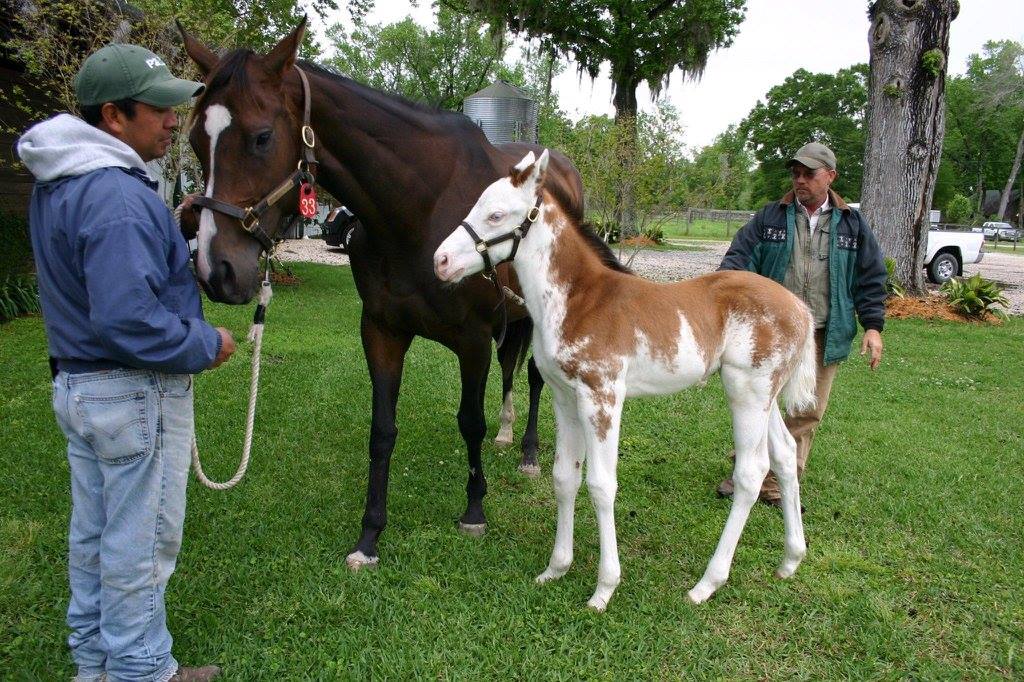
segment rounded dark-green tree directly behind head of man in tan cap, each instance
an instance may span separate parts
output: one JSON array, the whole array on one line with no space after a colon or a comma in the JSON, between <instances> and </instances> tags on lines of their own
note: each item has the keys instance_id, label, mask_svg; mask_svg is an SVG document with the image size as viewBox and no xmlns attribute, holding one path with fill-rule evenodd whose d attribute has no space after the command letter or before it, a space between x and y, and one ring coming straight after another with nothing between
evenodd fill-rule
<instances>
[{"instance_id":1,"label":"rounded dark-green tree directly behind head of man in tan cap","mask_svg":"<svg viewBox=\"0 0 1024 682\"><path fill-rule=\"evenodd\" d=\"M862 63L836 74L799 69L770 89L739 125L760 164L754 179L755 204L788 190L785 162L810 141L827 144L836 153L836 191L855 201L863 175L866 103L867 66Z\"/></svg>"}]
</instances>

